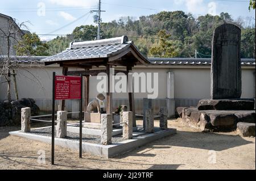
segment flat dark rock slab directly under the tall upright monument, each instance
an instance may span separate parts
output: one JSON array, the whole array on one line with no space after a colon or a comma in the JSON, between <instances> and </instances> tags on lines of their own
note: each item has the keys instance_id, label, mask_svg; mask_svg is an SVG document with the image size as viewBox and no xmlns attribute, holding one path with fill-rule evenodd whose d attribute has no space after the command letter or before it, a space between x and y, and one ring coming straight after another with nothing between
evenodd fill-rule
<instances>
[{"instance_id":1,"label":"flat dark rock slab directly under the tall upright monument","mask_svg":"<svg viewBox=\"0 0 256 181\"><path fill-rule=\"evenodd\" d=\"M254 110L254 100L202 99L198 110Z\"/></svg>"}]
</instances>

